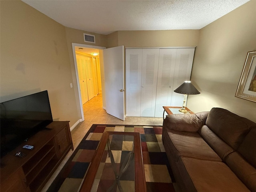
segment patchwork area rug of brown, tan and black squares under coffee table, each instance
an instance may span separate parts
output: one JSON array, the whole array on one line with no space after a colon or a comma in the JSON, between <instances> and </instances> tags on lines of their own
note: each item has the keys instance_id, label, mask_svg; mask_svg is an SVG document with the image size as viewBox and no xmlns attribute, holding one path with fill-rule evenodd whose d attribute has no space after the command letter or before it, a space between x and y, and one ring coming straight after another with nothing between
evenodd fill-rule
<instances>
[{"instance_id":1,"label":"patchwork area rug of brown, tan and black squares under coffee table","mask_svg":"<svg viewBox=\"0 0 256 192\"><path fill-rule=\"evenodd\" d=\"M79 191L105 131L140 132L147 191L175 192L172 185L174 180L172 170L162 144L162 126L100 124L93 124L88 130L47 192Z\"/></svg>"}]
</instances>

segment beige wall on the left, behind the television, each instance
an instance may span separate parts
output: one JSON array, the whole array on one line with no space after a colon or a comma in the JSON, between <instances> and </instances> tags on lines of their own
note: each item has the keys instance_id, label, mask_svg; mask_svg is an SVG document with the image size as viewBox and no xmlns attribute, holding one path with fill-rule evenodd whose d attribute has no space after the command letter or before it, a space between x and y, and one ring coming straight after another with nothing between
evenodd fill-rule
<instances>
[{"instance_id":1,"label":"beige wall on the left, behind the television","mask_svg":"<svg viewBox=\"0 0 256 192\"><path fill-rule=\"evenodd\" d=\"M54 120L78 120L65 28L22 1L0 1L1 102L48 90Z\"/></svg>"}]
</instances>

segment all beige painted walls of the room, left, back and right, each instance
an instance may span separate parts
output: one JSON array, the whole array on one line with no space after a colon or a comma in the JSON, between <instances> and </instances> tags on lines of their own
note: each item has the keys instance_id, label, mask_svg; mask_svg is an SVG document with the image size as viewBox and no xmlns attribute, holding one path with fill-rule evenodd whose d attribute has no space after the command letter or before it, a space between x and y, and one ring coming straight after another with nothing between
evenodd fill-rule
<instances>
[{"instance_id":1,"label":"all beige painted walls of the room, left, back and right","mask_svg":"<svg viewBox=\"0 0 256 192\"><path fill-rule=\"evenodd\" d=\"M246 53L256 50L255 7L256 1L250 1L202 30L118 31L105 36L64 27L22 1L1 0L1 102L48 90L53 118L70 120L72 126L81 118L72 42L197 46L191 80L202 93L189 96L188 107L195 112L223 107L255 121L256 103L234 97ZM94 34L96 44L85 43L83 33Z\"/></svg>"}]
</instances>

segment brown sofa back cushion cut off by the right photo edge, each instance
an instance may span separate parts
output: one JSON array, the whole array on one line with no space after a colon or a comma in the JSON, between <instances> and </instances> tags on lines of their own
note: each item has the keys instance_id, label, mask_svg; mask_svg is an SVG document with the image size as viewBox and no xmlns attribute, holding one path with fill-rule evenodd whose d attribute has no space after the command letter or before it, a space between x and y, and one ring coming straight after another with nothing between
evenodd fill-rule
<instances>
[{"instance_id":1,"label":"brown sofa back cushion cut off by the right photo edge","mask_svg":"<svg viewBox=\"0 0 256 192\"><path fill-rule=\"evenodd\" d=\"M256 128L251 129L246 135L238 152L256 168Z\"/></svg>"}]
</instances>

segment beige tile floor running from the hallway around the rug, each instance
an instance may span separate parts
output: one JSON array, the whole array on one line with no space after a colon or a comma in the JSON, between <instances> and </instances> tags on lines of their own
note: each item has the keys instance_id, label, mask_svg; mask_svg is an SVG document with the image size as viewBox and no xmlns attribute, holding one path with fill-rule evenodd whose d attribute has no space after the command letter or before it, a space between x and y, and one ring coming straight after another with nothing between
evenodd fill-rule
<instances>
[{"instance_id":1,"label":"beige tile floor running from the hallway around the rug","mask_svg":"<svg viewBox=\"0 0 256 192\"><path fill-rule=\"evenodd\" d=\"M82 138L86 135L92 124L119 124L119 125L162 125L163 118L155 118L155 117L126 117L124 121L111 116L106 113L102 104L102 95L98 94L98 96L92 98L88 102L83 105L84 110L84 121L80 122L72 131L72 141L74 145L74 149L81 142ZM70 150L64 160L61 162L60 166L58 166L57 170L48 180L44 188L41 192L46 192L60 170L66 164L70 156L74 151Z\"/></svg>"}]
</instances>

